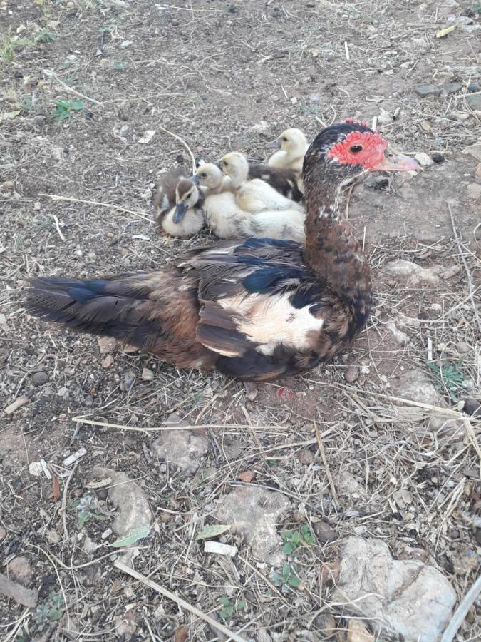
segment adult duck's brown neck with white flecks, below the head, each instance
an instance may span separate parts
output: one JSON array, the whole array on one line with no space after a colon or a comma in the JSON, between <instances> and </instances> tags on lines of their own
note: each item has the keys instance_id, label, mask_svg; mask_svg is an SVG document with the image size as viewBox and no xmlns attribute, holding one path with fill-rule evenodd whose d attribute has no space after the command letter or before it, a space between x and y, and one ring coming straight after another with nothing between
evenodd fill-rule
<instances>
[{"instance_id":1,"label":"adult duck's brown neck with white flecks, below the head","mask_svg":"<svg viewBox=\"0 0 481 642\"><path fill-rule=\"evenodd\" d=\"M341 184L304 177L306 246L304 260L329 290L353 305L359 322L371 305L371 272L350 225L341 217Z\"/></svg>"}]
</instances>

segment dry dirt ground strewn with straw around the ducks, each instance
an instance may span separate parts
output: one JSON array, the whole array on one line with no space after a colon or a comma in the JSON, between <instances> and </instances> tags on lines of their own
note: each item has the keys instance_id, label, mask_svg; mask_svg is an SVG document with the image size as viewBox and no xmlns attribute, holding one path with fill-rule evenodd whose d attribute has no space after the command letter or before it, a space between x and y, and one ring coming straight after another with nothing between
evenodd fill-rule
<instances>
[{"instance_id":1,"label":"dry dirt ground strewn with straw around the ducks","mask_svg":"<svg viewBox=\"0 0 481 642\"><path fill-rule=\"evenodd\" d=\"M150 502L154 524L135 569L246 640L346 640L348 618L330 596L350 534L437 566L461 599L480 567L480 421L467 422L460 403L480 399L480 161L462 153L480 131L467 98L468 85L474 96L480 89L477 34L467 29L480 6L167 1L0 0L0 571L14 577L11 564L25 557L20 579L40 588L33 608L0 596L0 638L227 639L113 566L114 506L105 489L85 487L95 464L125 472ZM436 39L449 14L467 18ZM426 83L460 86L420 98L414 89ZM120 349L105 360L97 340L21 307L28 277L155 269L211 242L207 233L170 240L152 226L155 173L190 162L160 127L208 161L234 149L264 159L287 126L311 138L348 116L377 116L393 146L438 151L444 162L414 178L370 178L351 193L376 303L336 362L249 402L217 374ZM142 142L146 131L155 135ZM408 285L383 272L397 259L448 275ZM431 378L456 428L435 430L393 404L398 377L412 369ZM195 477L161 462L159 432L145 431L174 411L207 425ZM63 464L79 449L83 457ZM40 459L52 479L31 474ZM239 481L243 472L254 477ZM232 561L195 540L215 523L219 498L249 478L289 499L279 531L306 526L314 537L292 567L300 583L276 586L271 566L235 533L223 539L239 547ZM79 501L94 508L82 513ZM457 639L479 639L479 626L478 604Z\"/></svg>"}]
</instances>

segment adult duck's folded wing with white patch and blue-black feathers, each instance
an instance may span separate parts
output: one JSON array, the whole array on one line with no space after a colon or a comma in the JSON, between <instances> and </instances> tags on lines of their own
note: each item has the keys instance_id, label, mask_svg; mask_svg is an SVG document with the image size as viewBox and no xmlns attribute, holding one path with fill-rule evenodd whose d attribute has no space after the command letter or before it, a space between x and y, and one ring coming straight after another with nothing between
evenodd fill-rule
<instances>
[{"instance_id":1,"label":"adult duck's folded wing with white patch and blue-black feathers","mask_svg":"<svg viewBox=\"0 0 481 642\"><path fill-rule=\"evenodd\" d=\"M293 241L248 239L196 251L197 340L224 357L309 352L323 325L321 288Z\"/></svg>"}]
</instances>

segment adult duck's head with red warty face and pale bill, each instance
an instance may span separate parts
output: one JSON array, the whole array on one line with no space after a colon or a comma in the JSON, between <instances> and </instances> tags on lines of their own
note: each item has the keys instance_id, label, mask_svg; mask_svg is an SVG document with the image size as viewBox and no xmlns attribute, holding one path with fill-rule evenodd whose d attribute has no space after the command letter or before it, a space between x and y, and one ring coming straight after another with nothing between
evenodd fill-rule
<instances>
[{"instance_id":1,"label":"adult duck's head with red warty face and pale bill","mask_svg":"<svg viewBox=\"0 0 481 642\"><path fill-rule=\"evenodd\" d=\"M314 138L304 156L306 193L331 193L358 175L375 171L418 170L409 156L388 151L388 141L366 123L344 121L326 127Z\"/></svg>"}]
</instances>

